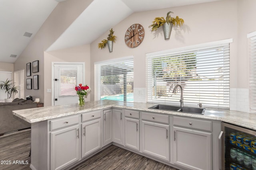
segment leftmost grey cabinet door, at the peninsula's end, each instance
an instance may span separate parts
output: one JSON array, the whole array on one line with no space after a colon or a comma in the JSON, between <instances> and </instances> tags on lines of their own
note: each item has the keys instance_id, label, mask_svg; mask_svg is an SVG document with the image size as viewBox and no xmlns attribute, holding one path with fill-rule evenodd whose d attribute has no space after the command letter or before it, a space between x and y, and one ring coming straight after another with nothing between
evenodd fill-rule
<instances>
[{"instance_id":1,"label":"leftmost grey cabinet door, at the peninsula's end","mask_svg":"<svg viewBox=\"0 0 256 170\"><path fill-rule=\"evenodd\" d=\"M51 132L51 170L63 169L79 160L79 138L78 125Z\"/></svg>"}]
</instances>

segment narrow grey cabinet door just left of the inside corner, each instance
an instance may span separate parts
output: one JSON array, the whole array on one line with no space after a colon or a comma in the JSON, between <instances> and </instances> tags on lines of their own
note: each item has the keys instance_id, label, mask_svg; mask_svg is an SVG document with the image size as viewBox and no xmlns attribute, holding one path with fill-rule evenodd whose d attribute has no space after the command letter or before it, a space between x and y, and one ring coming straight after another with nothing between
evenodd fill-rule
<instances>
[{"instance_id":1,"label":"narrow grey cabinet door just left of the inside corner","mask_svg":"<svg viewBox=\"0 0 256 170\"><path fill-rule=\"evenodd\" d=\"M112 142L112 109L103 110L103 146Z\"/></svg>"}]
</instances>

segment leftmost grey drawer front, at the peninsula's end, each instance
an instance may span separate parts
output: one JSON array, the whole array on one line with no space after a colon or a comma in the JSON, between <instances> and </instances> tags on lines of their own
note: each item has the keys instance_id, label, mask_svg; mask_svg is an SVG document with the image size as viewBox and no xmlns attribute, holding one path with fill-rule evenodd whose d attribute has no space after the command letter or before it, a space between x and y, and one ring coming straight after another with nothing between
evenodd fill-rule
<instances>
[{"instance_id":1,"label":"leftmost grey drawer front, at the peninsula's end","mask_svg":"<svg viewBox=\"0 0 256 170\"><path fill-rule=\"evenodd\" d=\"M50 121L51 131L79 123L79 115Z\"/></svg>"}]
</instances>

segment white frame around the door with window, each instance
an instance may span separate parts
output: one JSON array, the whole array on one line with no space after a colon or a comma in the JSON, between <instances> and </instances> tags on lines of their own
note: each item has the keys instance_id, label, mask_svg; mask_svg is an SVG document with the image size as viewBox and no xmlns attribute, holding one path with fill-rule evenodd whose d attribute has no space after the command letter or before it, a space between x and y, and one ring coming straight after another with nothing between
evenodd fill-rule
<instances>
[{"instance_id":1,"label":"white frame around the door with window","mask_svg":"<svg viewBox=\"0 0 256 170\"><path fill-rule=\"evenodd\" d=\"M82 64L83 65L83 84L85 83L85 62L52 62L52 106L54 106L54 65L55 64Z\"/></svg>"}]
</instances>

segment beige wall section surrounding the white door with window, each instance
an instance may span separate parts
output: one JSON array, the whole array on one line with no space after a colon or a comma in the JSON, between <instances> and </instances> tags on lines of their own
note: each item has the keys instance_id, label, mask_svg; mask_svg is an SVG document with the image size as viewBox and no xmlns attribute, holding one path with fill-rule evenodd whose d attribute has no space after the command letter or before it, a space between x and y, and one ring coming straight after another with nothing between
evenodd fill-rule
<instances>
[{"instance_id":1,"label":"beige wall section surrounding the white door with window","mask_svg":"<svg viewBox=\"0 0 256 170\"><path fill-rule=\"evenodd\" d=\"M52 88L52 62L84 62L85 63L85 83L90 86L90 45L61 49L51 52L44 52L44 106L52 106L52 93L47 93L46 89ZM82 82L79 82L82 83ZM75 87L74 87L75 88ZM90 94L85 99L90 101Z\"/></svg>"}]
</instances>

